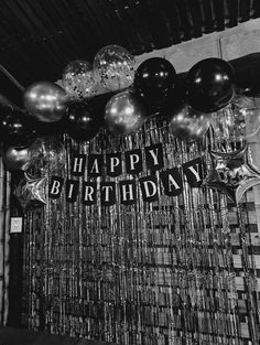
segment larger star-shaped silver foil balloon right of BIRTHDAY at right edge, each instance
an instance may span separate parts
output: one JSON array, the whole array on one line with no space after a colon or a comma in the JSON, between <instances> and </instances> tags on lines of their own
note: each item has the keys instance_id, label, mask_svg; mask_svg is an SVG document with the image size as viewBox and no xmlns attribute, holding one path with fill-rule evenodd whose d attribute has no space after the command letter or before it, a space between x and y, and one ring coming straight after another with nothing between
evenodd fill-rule
<instances>
[{"instance_id":1,"label":"larger star-shaped silver foil balloon right of BIRTHDAY at right edge","mask_svg":"<svg viewBox=\"0 0 260 345\"><path fill-rule=\"evenodd\" d=\"M238 204L242 195L252 186L260 184L260 172L251 161L249 145L232 152L210 152L213 169L204 185L228 195Z\"/></svg>"}]
</instances>

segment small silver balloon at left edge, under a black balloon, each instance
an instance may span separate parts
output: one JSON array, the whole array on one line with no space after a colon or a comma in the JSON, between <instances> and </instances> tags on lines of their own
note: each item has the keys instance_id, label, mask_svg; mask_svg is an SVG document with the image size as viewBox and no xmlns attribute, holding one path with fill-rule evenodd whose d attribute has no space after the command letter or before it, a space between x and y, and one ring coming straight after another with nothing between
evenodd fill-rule
<instances>
[{"instance_id":1,"label":"small silver balloon at left edge, under a black balloon","mask_svg":"<svg viewBox=\"0 0 260 345\"><path fill-rule=\"evenodd\" d=\"M3 151L2 158L8 170L26 171L32 161L29 148L10 147Z\"/></svg>"}]
</instances>

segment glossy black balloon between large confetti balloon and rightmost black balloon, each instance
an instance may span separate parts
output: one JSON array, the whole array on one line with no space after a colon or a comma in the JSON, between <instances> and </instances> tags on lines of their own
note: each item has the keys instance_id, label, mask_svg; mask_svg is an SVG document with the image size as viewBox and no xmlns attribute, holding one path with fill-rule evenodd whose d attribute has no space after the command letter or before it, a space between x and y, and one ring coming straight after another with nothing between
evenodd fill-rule
<instances>
[{"instance_id":1,"label":"glossy black balloon between large confetti balloon and rightmost black balloon","mask_svg":"<svg viewBox=\"0 0 260 345\"><path fill-rule=\"evenodd\" d=\"M165 58L152 57L138 67L134 76L136 90L151 103L163 101L174 88L176 72Z\"/></svg>"}]
</instances>

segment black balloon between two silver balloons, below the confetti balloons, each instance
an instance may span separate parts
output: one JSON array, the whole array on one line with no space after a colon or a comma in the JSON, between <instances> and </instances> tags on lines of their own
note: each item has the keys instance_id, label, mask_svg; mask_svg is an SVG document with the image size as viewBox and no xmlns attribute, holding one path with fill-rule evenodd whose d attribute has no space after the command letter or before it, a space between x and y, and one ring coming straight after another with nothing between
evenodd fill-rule
<instances>
[{"instance_id":1,"label":"black balloon between two silver balloons, below the confetti balloons","mask_svg":"<svg viewBox=\"0 0 260 345\"><path fill-rule=\"evenodd\" d=\"M84 103L73 103L67 109L66 130L78 141L91 140L99 131L100 119Z\"/></svg>"}]
</instances>

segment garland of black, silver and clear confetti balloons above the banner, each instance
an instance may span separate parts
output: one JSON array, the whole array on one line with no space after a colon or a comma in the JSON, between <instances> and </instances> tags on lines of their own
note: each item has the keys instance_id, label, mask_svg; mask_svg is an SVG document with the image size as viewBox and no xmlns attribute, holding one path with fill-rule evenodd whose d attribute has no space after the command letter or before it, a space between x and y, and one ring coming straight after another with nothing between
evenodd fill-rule
<instances>
[{"instance_id":1,"label":"garland of black, silver and clear confetti balloons above the banner","mask_svg":"<svg viewBox=\"0 0 260 345\"><path fill-rule=\"evenodd\" d=\"M111 97L97 110L93 100L100 89L111 93ZM131 134L158 114L165 115L169 130L180 140L198 140L210 125L220 138L224 130L238 129L246 116L259 117L256 111L245 112L247 101L246 107L241 106L243 98L235 94L235 71L224 60L203 60L181 78L165 58L149 58L134 72L134 57L126 48L105 46L93 65L79 60L71 62L63 72L62 85L30 85L23 95L25 110L11 106L2 109L0 134L7 144L3 160L10 170L26 171L43 157L39 149L44 147L41 136L52 134L55 128L76 141L89 141L102 126L115 136ZM236 111L226 111L230 107ZM213 163L216 165L214 159ZM205 184L216 187L217 181L217 188L226 193L227 188L218 187L224 182L216 166ZM240 195L232 200L238 202Z\"/></svg>"}]
</instances>

